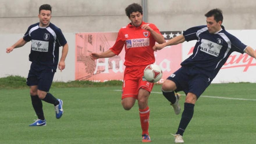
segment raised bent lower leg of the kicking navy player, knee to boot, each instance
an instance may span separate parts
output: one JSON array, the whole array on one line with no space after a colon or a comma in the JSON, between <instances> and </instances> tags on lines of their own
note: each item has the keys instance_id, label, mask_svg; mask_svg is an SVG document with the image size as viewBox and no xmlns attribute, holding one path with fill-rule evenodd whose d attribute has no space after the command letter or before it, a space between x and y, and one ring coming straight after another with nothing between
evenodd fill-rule
<instances>
[{"instance_id":1,"label":"raised bent lower leg of the kicking navy player, knee to boot","mask_svg":"<svg viewBox=\"0 0 256 144\"><path fill-rule=\"evenodd\" d=\"M166 81L162 85L163 96L173 106L175 114L179 114L180 110L181 110L180 105L179 105L179 99L180 99L181 95L178 93L177 94L174 93L174 90L176 90L176 89L177 89L177 86L176 86L175 82L173 82L172 80L169 80L169 79L166 79Z\"/></svg>"}]
</instances>

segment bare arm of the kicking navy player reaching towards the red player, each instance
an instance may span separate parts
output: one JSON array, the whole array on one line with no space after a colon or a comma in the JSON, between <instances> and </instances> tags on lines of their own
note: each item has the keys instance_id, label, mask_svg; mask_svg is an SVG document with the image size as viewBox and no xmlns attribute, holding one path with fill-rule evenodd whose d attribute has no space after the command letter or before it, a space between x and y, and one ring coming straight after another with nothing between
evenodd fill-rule
<instances>
[{"instance_id":1,"label":"bare arm of the kicking navy player reaching towards the red player","mask_svg":"<svg viewBox=\"0 0 256 144\"><path fill-rule=\"evenodd\" d=\"M176 36L169 40L168 42L164 42L162 44L154 45L154 51L161 50L162 48L169 46L169 45L177 45L185 41L185 37L183 35Z\"/></svg>"}]
</instances>

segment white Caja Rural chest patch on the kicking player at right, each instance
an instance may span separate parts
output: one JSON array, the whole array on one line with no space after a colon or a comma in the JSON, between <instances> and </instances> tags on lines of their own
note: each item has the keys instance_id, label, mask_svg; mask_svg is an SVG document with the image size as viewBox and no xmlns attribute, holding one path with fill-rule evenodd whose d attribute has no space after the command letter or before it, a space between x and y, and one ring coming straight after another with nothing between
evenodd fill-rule
<instances>
[{"instance_id":1,"label":"white Caja Rural chest patch on the kicking player at right","mask_svg":"<svg viewBox=\"0 0 256 144\"><path fill-rule=\"evenodd\" d=\"M210 54L212 56L219 56L222 45L219 45L210 40L201 40L200 51Z\"/></svg>"}]
</instances>

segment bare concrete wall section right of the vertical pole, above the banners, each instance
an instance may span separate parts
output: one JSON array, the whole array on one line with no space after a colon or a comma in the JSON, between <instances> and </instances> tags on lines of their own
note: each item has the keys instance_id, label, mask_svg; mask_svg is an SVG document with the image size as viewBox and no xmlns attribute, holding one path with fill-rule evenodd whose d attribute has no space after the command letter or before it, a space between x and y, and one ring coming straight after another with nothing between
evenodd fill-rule
<instances>
[{"instance_id":1,"label":"bare concrete wall section right of the vertical pole, above the banners","mask_svg":"<svg viewBox=\"0 0 256 144\"><path fill-rule=\"evenodd\" d=\"M255 7L252 0L149 0L148 21L161 31L186 30L205 25L205 13L220 8L226 29L256 29Z\"/></svg>"}]
</instances>

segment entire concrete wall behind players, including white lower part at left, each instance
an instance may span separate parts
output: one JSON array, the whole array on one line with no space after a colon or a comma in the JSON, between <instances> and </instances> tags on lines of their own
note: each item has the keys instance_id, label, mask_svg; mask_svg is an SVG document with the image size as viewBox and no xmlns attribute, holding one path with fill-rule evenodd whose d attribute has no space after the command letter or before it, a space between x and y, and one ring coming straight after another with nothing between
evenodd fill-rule
<instances>
[{"instance_id":1,"label":"entire concrete wall behind players, including white lower part at left","mask_svg":"<svg viewBox=\"0 0 256 144\"><path fill-rule=\"evenodd\" d=\"M129 23L125 8L133 2L141 4L141 0L0 0L0 77L27 76L30 43L10 54L5 51L38 22L40 5L52 6L51 22L62 29L70 47L66 69L57 71L54 80L69 81L74 80L75 33L117 32ZM180 31L205 24L204 14L221 8L226 29L256 29L255 7L252 0L148 0L147 17L160 31Z\"/></svg>"}]
</instances>

